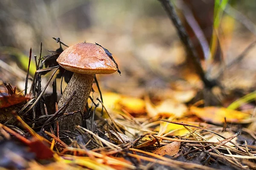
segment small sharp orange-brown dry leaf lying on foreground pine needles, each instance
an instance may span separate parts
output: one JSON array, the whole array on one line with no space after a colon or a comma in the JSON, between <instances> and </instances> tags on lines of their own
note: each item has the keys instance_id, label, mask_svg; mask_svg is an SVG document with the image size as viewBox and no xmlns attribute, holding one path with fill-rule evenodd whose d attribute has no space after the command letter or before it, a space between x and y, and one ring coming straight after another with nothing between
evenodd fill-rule
<instances>
[{"instance_id":1,"label":"small sharp orange-brown dry leaf lying on foreground pine needles","mask_svg":"<svg viewBox=\"0 0 256 170\"><path fill-rule=\"evenodd\" d=\"M175 156L180 149L180 142L172 142L171 144L165 145L153 151L154 154L164 156Z\"/></svg>"}]
</instances>

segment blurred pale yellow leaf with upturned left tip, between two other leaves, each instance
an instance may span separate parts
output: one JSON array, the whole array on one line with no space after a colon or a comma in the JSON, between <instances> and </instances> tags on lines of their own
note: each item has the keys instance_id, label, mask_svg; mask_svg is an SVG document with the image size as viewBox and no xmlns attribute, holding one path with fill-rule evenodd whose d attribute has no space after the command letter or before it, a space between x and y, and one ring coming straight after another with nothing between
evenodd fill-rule
<instances>
[{"instance_id":1,"label":"blurred pale yellow leaf with upturned left tip, between two other leaves","mask_svg":"<svg viewBox=\"0 0 256 170\"><path fill-rule=\"evenodd\" d=\"M145 99L146 110L150 117L154 116L174 116L182 117L183 113L187 112L187 107L183 103L176 102L173 99L166 99L163 102L160 102L157 106L151 104L148 98Z\"/></svg>"}]
</instances>

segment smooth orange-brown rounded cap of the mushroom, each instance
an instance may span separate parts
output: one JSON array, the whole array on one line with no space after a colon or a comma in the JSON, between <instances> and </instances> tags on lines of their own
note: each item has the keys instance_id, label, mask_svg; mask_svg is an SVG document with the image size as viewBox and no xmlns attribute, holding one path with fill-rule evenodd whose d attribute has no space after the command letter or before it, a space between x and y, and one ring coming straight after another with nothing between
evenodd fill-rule
<instances>
[{"instance_id":1,"label":"smooth orange-brown rounded cap of the mushroom","mask_svg":"<svg viewBox=\"0 0 256 170\"><path fill-rule=\"evenodd\" d=\"M57 59L61 67L80 74L112 74L116 64L99 45L81 42L65 49Z\"/></svg>"}]
</instances>

